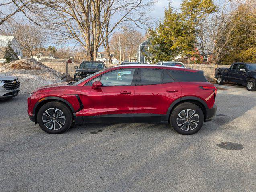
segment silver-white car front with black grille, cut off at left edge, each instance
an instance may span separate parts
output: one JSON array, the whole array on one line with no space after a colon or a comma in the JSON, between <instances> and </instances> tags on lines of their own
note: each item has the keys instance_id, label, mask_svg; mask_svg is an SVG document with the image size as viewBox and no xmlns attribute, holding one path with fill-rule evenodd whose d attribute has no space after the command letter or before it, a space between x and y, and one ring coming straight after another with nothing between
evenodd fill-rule
<instances>
[{"instance_id":1,"label":"silver-white car front with black grille, cut off at left edge","mask_svg":"<svg viewBox=\"0 0 256 192\"><path fill-rule=\"evenodd\" d=\"M0 74L0 99L15 97L19 91L20 82L18 78Z\"/></svg>"}]
</instances>

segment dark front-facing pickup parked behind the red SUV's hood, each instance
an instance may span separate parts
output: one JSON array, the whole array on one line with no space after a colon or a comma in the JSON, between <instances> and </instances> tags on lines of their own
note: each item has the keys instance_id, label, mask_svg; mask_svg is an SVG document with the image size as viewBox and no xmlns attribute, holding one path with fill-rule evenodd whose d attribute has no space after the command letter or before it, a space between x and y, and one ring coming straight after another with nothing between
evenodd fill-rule
<instances>
[{"instance_id":1,"label":"dark front-facing pickup parked behind the red SUV's hood","mask_svg":"<svg viewBox=\"0 0 256 192\"><path fill-rule=\"evenodd\" d=\"M83 61L79 68L75 67L76 72L74 74L74 80L78 81L80 79L86 78L87 76L105 68L106 66L102 61Z\"/></svg>"}]
</instances>

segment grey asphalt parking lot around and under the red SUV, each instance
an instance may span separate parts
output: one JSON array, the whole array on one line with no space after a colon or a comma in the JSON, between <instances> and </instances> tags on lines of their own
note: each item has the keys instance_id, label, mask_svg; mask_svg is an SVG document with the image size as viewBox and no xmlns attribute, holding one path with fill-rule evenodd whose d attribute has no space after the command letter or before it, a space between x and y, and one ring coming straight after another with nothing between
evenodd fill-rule
<instances>
[{"instance_id":1,"label":"grey asphalt parking lot around and under the red SUV","mask_svg":"<svg viewBox=\"0 0 256 192\"><path fill-rule=\"evenodd\" d=\"M217 115L194 135L165 124L85 124L51 135L27 94L0 101L0 191L256 190L256 92L219 86Z\"/></svg>"}]
</instances>

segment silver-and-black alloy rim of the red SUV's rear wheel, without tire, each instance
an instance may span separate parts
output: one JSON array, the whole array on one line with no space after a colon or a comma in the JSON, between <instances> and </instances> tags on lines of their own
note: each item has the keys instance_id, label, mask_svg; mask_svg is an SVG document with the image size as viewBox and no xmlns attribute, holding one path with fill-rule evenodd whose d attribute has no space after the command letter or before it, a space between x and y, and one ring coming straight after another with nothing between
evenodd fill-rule
<instances>
[{"instance_id":1,"label":"silver-and-black alloy rim of the red SUV's rear wheel, without tire","mask_svg":"<svg viewBox=\"0 0 256 192\"><path fill-rule=\"evenodd\" d=\"M184 131L190 131L197 128L199 124L199 115L195 110L182 110L176 119L177 125Z\"/></svg>"}]
</instances>

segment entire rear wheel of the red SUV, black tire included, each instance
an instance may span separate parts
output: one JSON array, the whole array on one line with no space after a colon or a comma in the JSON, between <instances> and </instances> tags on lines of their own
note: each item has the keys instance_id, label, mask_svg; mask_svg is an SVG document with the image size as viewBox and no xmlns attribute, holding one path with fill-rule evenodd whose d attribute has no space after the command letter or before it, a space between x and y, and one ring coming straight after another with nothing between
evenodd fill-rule
<instances>
[{"instance_id":1,"label":"entire rear wheel of the red SUV, black tire included","mask_svg":"<svg viewBox=\"0 0 256 192\"><path fill-rule=\"evenodd\" d=\"M194 112L196 113L194 113ZM188 118L191 116L190 121L188 123L188 118L186 118L186 112L188 112ZM194 115L192 115L194 113ZM183 117L184 119L180 118ZM198 122L197 122L198 121ZM184 123L183 126L181 124ZM172 114L170 115L170 124L172 128L176 132L182 135L191 135L198 132L201 127L203 126L204 122L204 114L201 108L193 103L190 102L184 102L182 104L179 104L174 108L172 111ZM189 125L188 125L189 124ZM196 125L197 124L197 125ZM180 125L180 126L179 126ZM188 129L188 130L186 130Z\"/></svg>"}]
</instances>

